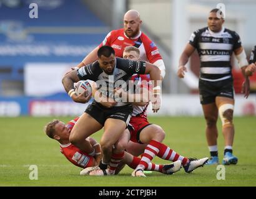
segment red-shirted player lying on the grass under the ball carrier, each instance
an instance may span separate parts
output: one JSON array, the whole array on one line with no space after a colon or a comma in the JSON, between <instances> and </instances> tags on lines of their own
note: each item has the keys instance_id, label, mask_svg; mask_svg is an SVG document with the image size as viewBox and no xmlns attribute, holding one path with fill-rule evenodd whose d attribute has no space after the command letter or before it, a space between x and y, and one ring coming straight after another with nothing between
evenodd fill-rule
<instances>
[{"instance_id":1,"label":"red-shirted player lying on the grass under the ball carrier","mask_svg":"<svg viewBox=\"0 0 256 199\"><path fill-rule=\"evenodd\" d=\"M67 160L77 167L84 169L80 174L86 175L89 174L95 166L99 165L99 162L101 161L101 146L92 137L87 137L87 141L89 141L91 146L94 148L94 151L91 154L88 154L69 142L70 132L78 119L79 118L72 119L67 124L54 119L46 125L45 132L47 136L59 142L61 153L67 158ZM140 159L126 152L122 161L132 169L135 169L139 164ZM174 172L179 171L179 169L175 169L175 164L180 164L180 162L177 161L166 165L149 164L149 167L146 170L157 171L162 174L173 174ZM120 172L120 169L116 171L116 174L118 172Z\"/></svg>"}]
</instances>

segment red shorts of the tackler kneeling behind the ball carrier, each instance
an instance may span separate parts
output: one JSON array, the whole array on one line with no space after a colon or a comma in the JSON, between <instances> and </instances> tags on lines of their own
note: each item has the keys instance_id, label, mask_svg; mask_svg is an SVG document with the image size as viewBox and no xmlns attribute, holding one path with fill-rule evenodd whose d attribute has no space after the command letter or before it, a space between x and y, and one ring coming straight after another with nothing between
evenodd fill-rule
<instances>
[{"instance_id":1,"label":"red shorts of the tackler kneeling behind the ball carrier","mask_svg":"<svg viewBox=\"0 0 256 199\"><path fill-rule=\"evenodd\" d=\"M143 118L140 116L130 118L130 123L128 126L128 129L130 131L130 141L144 144L139 140L140 132L149 125L150 123L149 121L147 121L147 118Z\"/></svg>"}]
</instances>

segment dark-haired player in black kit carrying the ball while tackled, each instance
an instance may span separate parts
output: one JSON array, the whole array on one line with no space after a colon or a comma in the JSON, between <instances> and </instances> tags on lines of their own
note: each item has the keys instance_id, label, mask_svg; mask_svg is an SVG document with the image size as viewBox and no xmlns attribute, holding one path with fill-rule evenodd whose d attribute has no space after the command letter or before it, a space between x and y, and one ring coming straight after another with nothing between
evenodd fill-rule
<instances>
[{"instance_id":1,"label":"dark-haired player in black kit carrying the ball while tackled","mask_svg":"<svg viewBox=\"0 0 256 199\"><path fill-rule=\"evenodd\" d=\"M111 159L112 146L119 140L122 133L129 123L130 114L132 113L132 104L122 101L116 102L112 99L112 106L104 106L109 103L113 96L114 88L120 85L128 85L127 81L134 73L149 74L150 80L157 88L153 91L152 101L153 111L157 112L160 108L160 70L149 62L132 61L115 56L112 47L102 46L97 52L98 60L67 73L62 78L62 84L71 98L77 103L86 103L88 98L84 95L77 96L74 92L74 83L79 80L96 81L99 88L99 99L108 99L101 103L96 101L97 94L94 95L94 101L90 104L85 113L77 121L77 125L72 129L69 140L79 149L93 152L92 147L86 144L86 137L104 127L104 133L101 137L102 161L99 167L107 169L107 164ZM127 84L126 84L127 83ZM100 88L101 87L101 88ZM123 88L123 87L122 87ZM101 98L101 96L103 96ZM110 102L111 103L111 102ZM89 146L89 148L87 148Z\"/></svg>"}]
</instances>

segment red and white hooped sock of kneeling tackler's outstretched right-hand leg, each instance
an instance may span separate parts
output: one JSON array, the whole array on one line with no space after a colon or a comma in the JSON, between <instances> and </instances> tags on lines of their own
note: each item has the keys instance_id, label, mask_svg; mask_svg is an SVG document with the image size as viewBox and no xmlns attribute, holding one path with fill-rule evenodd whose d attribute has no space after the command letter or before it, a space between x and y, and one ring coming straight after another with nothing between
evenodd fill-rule
<instances>
[{"instance_id":1,"label":"red and white hooped sock of kneeling tackler's outstretched right-hand leg","mask_svg":"<svg viewBox=\"0 0 256 199\"><path fill-rule=\"evenodd\" d=\"M172 162L180 160L180 161L182 161L182 165L185 165L189 162L189 159L177 154L177 152L170 149L170 147L167 147L165 144L162 144L160 142L158 142L158 143L159 143L160 147L159 147L159 153L157 154L157 156L160 157L161 159L170 160Z\"/></svg>"}]
</instances>

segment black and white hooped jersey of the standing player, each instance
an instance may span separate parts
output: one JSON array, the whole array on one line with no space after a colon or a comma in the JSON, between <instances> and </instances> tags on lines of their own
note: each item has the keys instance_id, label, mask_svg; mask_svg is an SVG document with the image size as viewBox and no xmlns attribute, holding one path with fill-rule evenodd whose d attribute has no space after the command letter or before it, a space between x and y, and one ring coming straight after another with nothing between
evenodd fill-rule
<instances>
[{"instance_id":1,"label":"black and white hooped jersey of the standing player","mask_svg":"<svg viewBox=\"0 0 256 199\"><path fill-rule=\"evenodd\" d=\"M200 57L200 79L220 81L232 78L230 59L235 49L241 47L239 35L224 27L212 32L208 27L192 33L191 44Z\"/></svg>"}]
</instances>

